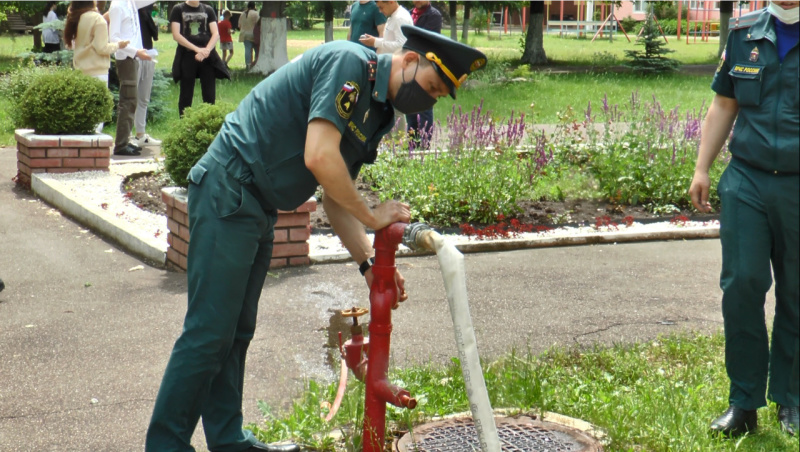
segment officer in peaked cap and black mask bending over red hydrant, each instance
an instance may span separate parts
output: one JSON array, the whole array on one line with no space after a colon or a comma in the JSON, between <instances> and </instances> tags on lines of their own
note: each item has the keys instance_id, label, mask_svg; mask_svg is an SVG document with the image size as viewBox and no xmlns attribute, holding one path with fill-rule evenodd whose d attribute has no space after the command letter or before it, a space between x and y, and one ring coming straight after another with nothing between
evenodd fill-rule
<instances>
[{"instance_id":1,"label":"officer in peaked cap and black mask bending over red hydrant","mask_svg":"<svg viewBox=\"0 0 800 452\"><path fill-rule=\"evenodd\" d=\"M272 254L277 209L324 189L323 207L367 284L374 254L364 226L409 221L387 201L374 210L353 180L372 163L394 109L414 113L450 94L486 57L404 27L405 51L378 56L349 41L321 45L259 83L227 116L189 173L189 307L156 398L146 450L191 451L200 417L212 451L296 451L242 430L247 347ZM407 298L396 275L399 301Z\"/></svg>"}]
</instances>

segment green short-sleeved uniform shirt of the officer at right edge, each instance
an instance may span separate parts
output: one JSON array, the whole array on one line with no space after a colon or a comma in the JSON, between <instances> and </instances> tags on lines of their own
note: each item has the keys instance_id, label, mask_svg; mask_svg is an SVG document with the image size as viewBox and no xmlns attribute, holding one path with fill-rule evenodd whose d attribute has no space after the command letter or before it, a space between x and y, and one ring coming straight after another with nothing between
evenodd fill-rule
<instances>
[{"instance_id":1,"label":"green short-sleeved uniform shirt of the officer at right edge","mask_svg":"<svg viewBox=\"0 0 800 452\"><path fill-rule=\"evenodd\" d=\"M800 173L800 50L795 45L781 63L776 41L766 10L732 19L711 89L739 104L734 157L765 171Z\"/></svg>"}]
</instances>

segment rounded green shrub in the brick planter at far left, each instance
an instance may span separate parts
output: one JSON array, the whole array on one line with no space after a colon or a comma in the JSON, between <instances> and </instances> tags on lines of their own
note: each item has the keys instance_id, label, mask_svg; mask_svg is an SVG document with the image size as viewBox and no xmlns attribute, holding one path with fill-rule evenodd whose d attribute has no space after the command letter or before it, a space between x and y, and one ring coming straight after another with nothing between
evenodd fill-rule
<instances>
[{"instance_id":1,"label":"rounded green shrub in the brick planter at far left","mask_svg":"<svg viewBox=\"0 0 800 452\"><path fill-rule=\"evenodd\" d=\"M79 71L35 78L19 100L19 127L44 135L91 134L111 119L113 101L105 83Z\"/></svg>"}]
</instances>

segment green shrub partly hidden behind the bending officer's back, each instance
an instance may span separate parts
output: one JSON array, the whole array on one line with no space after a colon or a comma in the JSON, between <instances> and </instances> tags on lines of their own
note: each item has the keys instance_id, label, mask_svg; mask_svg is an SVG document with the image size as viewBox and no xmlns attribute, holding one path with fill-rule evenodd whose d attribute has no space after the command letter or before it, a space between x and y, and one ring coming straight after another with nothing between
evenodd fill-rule
<instances>
[{"instance_id":1,"label":"green shrub partly hidden behind the bending officer's back","mask_svg":"<svg viewBox=\"0 0 800 452\"><path fill-rule=\"evenodd\" d=\"M183 118L164 137L161 153L164 169L180 187L188 187L189 170L206 153L217 136L225 115L235 107L230 104L200 104L187 108Z\"/></svg>"}]
</instances>

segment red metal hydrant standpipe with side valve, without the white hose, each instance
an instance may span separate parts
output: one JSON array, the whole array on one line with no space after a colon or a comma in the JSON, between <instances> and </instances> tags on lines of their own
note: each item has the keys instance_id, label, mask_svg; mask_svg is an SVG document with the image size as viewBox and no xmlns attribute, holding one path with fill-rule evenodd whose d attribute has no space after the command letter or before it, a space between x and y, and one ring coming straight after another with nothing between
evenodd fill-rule
<instances>
[{"instance_id":1,"label":"red metal hydrant standpipe with side valve, without the white hose","mask_svg":"<svg viewBox=\"0 0 800 452\"><path fill-rule=\"evenodd\" d=\"M359 380L364 379L366 367L366 395L364 409L364 452L384 450L386 430L386 404L413 409L416 399L409 392L391 383L389 371L389 348L392 334L392 309L397 307L397 283L395 282L395 253L403 240L406 223L394 223L375 233L375 264L372 266L372 286L369 292L371 319L369 338L361 334L356 318L365 310L343 312L345 317L354 317L352 338L342 350L347 367ZM367 354L366 362L363 354Z\"/></svg>"}]
</instances>

